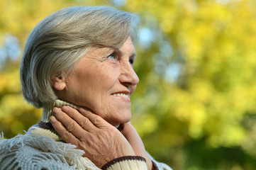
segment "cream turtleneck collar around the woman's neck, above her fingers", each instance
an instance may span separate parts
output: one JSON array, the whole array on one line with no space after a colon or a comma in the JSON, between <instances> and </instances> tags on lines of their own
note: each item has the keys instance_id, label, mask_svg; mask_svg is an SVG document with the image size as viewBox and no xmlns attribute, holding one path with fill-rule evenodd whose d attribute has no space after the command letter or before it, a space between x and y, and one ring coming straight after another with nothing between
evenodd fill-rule
<instances>
[{"instance_id":1,"label":"cream turtleneck collar around the woman's neck, above her fingers","mask_svg":"<svg viewBox=\"0 0 256 170\"><path fill-rule=\"evenodd\" d=\"M50 123L50 117L53 115L52 109L54 107L62 108L62 106L71 106L72 108L78 109L79 106L74 105L73 103L69 103L67 101L61 101L57 99L54 103L46 103L43 107L43 116L42 116L42 122L43 123Z\"/></svg>"}]
</instances>

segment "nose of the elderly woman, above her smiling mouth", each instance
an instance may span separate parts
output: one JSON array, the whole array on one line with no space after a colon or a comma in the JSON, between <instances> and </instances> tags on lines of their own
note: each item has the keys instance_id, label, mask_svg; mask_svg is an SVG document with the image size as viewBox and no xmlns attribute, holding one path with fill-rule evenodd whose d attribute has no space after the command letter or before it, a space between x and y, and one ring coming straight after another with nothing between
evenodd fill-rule
<instances>
[{"instance_id":1,"label":"nose of the elderly woman, above her smiling mouth","mask_svg":"<svg viewBox=\"0 0 256 170\"><path fill-rule=\"evenodd\" d=\"M129 86L135 86L138 84L140 79L138 78L137 74L134 72L134 69L130 63L126 64L125 66L123 65L121 69L122 69L122 72L121 72L121 76L119 77L119 80L121 81L121 83L128 84Z\"/></svg>"}]
</instances>

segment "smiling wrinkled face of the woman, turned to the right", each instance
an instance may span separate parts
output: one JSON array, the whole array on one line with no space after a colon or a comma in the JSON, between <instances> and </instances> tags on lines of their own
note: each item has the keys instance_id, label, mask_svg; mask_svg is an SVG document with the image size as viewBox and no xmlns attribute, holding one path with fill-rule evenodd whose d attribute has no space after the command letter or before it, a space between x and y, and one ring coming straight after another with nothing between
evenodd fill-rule
<instances>
[{"instance_id":1,"label":"smiling wrinkled face of the woman, turned to the right","mask_svg":"<svg viewBox=\"0 0 256 170\"><path fill-rule=\"evenodd\" d=\"M89 108L112 125L128 122L130 95L139 82L134 60L130 38L118 49L92 47L68 75L60 99Z\"/></svg>"}]
</instances>

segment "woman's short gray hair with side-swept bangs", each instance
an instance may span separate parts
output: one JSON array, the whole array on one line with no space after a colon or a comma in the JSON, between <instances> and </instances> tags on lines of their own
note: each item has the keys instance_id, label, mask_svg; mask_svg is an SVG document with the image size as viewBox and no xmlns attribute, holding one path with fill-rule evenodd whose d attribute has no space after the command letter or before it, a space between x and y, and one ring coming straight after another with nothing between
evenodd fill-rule
<instances>
[{"instance_id":1,"label":"woman's short gray hair with side-swept bangs","mask_svg":"<svg viewBox=\"0 0 256 170\"><path fill-rule=\"evenodd\" d=\"M121 47L137 39L137 18L108 6L74 6L52 13L36 26L21 60L21 89L36 108L57 99L52 79L69 74L90 47Z\"/></svg>"}]
</instances>

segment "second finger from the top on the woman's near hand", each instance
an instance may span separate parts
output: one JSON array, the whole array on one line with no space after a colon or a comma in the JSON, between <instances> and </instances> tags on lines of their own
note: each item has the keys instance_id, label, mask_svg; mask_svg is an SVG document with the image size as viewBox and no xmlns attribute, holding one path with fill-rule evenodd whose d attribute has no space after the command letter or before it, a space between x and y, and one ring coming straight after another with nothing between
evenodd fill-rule
<instances>
[{"instance_id":1,"label":"second finger from the top on the woman's near hand","mask_svg":"<svg viewBox=\"0 0 256 170\"><path fill-rule=\"evenodd\" d=\"M70 106L63 106L62 111L67 113L70 118L74 119L84 130L91 132L92 130L94 130L94 128L96 128L88 118L84 117L84 115L79 113L79 111L77 111L76 109Z\"/></svg>"}]
</instances>

